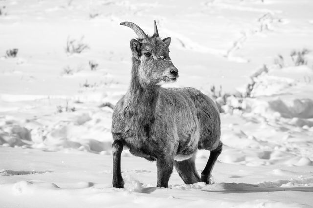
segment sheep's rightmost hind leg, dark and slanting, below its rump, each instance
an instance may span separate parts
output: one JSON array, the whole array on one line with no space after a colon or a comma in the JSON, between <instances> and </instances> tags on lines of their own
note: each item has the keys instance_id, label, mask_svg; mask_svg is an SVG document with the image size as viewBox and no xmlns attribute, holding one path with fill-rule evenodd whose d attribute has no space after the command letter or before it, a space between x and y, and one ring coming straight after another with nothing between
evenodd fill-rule
<instances>
[{"instance_id":1,"label":"sheep's rightmost hind leg, dark and slanting, below its rump","mask_svg":"<svg viewBox=\"0 0 313 208\"><path fill-rule=\"evenodd\" d=\"M220 141L218 147L216 149L210 151L210 157L206 163L204 170L201 173L201 181L202 182L205 182L207 184L212 183L212 181L211 181L212 169L214 167L214 164L215 164L217 158L219 157L219 155L222 152L222 146L223 146L223 143Z\"/></svg>"}]
</instances>

